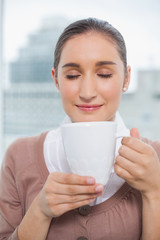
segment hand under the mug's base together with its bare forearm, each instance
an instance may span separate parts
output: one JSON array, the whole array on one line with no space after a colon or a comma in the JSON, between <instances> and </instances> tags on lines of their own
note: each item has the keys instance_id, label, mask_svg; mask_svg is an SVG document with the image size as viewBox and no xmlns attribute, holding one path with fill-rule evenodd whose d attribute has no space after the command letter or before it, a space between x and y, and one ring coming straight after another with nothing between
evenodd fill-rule
<instances>
[{"instance_id":1,"label":"hand under the mug's base together with its bare forearm","mask_svg":"<svg viewBox=\"0 0 160 240\"><path fill-rule=\"evenodd\" d=\"M102 192L92 177L50 174L18 227L18 239L46 239L52 218L91 203Z\"/></svg>"}]
</instances>

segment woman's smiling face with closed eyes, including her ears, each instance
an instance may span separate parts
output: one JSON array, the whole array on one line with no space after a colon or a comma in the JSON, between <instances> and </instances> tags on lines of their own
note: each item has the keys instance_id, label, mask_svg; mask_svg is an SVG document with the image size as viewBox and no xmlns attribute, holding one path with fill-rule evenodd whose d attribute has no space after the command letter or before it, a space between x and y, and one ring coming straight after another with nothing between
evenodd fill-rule
<instances>
[{"instance_id":1,"label":"woman's smiling face with closed eyes, including her ears","mask_svg":"<svg viewBox=\"0 0 160 240\"><path fill-rule=\"evenodd\" d=\"M72 122L112 121L130 79L115 45L100 33L75 36L63 47L52 77Z\"/></svg>"}]
</instances>

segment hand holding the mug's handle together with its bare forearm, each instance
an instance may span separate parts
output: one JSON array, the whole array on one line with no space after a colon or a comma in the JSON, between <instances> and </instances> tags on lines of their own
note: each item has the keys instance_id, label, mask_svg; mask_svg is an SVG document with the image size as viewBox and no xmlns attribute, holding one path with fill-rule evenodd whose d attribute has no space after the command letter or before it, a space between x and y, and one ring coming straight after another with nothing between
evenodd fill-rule
<instances>
[{"instance_id":1,"label":"hand holding the mug's handle together with its bare forearm","mask_svg":"<svg viewBox=\"0 0 160 240\"><path fill-rule=\"evenodd\" d=\"M141 240L160 239L160 161L155 150L140 140L136 128L122 140L115 172L142 195Z\"/></svg>"}]
</instances>

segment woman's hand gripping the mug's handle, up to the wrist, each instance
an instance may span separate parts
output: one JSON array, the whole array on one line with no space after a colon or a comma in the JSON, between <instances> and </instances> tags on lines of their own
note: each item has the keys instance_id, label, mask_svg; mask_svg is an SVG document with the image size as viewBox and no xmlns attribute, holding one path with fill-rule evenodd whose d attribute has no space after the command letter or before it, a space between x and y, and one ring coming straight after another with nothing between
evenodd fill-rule
<instances>
[{"instance_id":1,"label":"woman's hand gripping the mug's handle, up to the wrist","mask_svg":"<svg viewBox=\"0 0 160 240\"><path fill-rule=\"evenodd\" d=\"M155 150L140 140L136 128L131 129L130 135L122 139L115 172L142 195L152 196L160 192L160 160Z\"/></svg>"}]
</instances>

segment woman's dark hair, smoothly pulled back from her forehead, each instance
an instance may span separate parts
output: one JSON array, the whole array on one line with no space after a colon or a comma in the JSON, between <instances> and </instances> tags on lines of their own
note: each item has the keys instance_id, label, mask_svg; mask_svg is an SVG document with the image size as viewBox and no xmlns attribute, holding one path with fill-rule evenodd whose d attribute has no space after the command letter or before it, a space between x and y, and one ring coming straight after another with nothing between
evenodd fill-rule
<instances>
[{"instance_id":1,"label":"woman's dark hair, smoothly pulled back from her forehead","mask_svg":"<svg viewBox=\"0 0 160 240\"><path fill-rule=\"evenodd\" d=\"M124 64L125 72L127 72L126 45L121 33L116 28L114 28L111 24L109 24L107 21L99 20L96 18L87 18L87 19L82 19L82 20L73 22L68 27L66 27L62 32L62 34L60 35L56 44L55 52L54 52L54 68L55 68L56 77L57 77L58 64L60 61L64 44L69 39L71 39L76 35L91 32L91 31L102 33L105 36L107 36L109 39L111 39L113 43L115 43L117 50L119 52L120 58Z\"/></svg>"}]
</instances>

